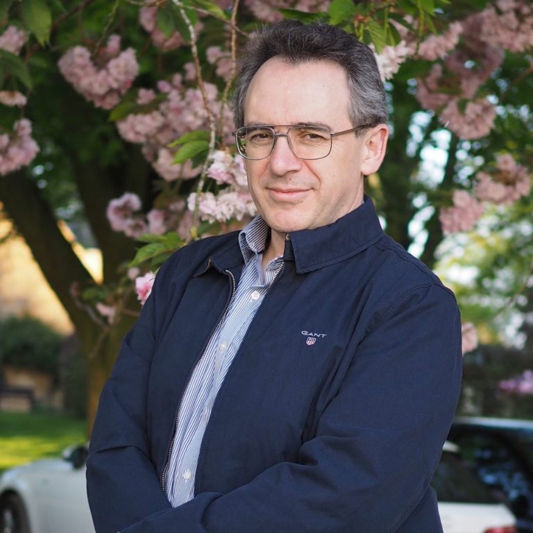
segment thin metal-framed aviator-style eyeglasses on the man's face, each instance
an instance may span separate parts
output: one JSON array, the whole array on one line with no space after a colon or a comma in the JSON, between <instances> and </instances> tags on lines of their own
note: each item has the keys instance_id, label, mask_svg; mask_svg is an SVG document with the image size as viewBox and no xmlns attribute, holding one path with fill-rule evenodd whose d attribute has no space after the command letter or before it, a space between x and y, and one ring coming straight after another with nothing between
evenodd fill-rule
<instances>
[{"instance_id":1,"label":"thin metal-framed aviator-style eyeglasses on the man's face","mask_svg":"<svg viewBox=\"0 0 533 533\"><path fill-rule=\"evenodd\" d=\"M245 159L260 160L268 158L276 144L277 137L287 137L289 148L299 159L327 158L331 152L333 137L371 128L375 124L362 124L349 130L330 132L325 126L303 124L298 126L267 126L257 124L242 126L233 133L237 150ZM274 128L289 128L287 133L276 133Z\"/></svg>"}]
</instances>

